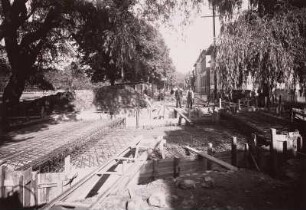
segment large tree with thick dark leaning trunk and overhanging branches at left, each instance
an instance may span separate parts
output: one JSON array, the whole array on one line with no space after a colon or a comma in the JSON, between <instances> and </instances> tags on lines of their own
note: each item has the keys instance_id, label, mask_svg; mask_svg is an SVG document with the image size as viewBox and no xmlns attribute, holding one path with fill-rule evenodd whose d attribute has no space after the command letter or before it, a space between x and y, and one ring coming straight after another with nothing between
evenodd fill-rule
<instances>
[{"instance_id":1,"label":"large tree with thick dark leaning trunk and overhanging branches at left","mask_svg":"<svg viewBox=\"0 0 306 210\"><path fill-rule=\"evenodd\" d=\"M65 54L66 49L62 48L62 44L75 44L81 29L86 29L84 26L103 32L102 35L97 33L96 38L106 43L102 48L107 49L106 54L111 65L111 68L106 69L120 68L134 56L130 54L133 46L129 45L129 41L135 35L135 27L126 27L129 23L134 25L131 21L154 21L158 17L167 20L177 8L188 17L191 11L189 9L199 8L203 2L204 0L1 0L0 41L5 41L5 56L11 71L3 93L3 122L6 122L7 107L19 102L26 82L35 75L42 75L38 72L49 69L46 66ZM101 24L98 23L105 23L102 31ZM86 35L86 31L83 32L81 34ZM78 44L83 49L90 49L95 43L88 46ZM103 56L102 52L105 50L99 51L100 56ZM87 56L90 58L93 55L95 53L88 53ZM116 78L117 74L113 77Z\"/></svg>"}]
</instances>

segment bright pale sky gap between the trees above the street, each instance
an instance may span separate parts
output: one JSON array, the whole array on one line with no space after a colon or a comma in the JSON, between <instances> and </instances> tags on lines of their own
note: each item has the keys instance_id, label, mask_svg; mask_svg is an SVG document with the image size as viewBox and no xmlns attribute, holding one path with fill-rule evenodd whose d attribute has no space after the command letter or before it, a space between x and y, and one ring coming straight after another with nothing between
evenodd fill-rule
<instances>
[{"instance_id":1,"label":"bright pale sky gap between the trees above the street","mask_svg":"<svg viewBox=\"0 0 306 210\"><path fill-rule=\"evenodd\" d=\"M242 8L246 7L243 3ZM180 16L174 16L174 28L160 27L166 45L170 49L170 57L173 60L176 71L181 73L191 72L201 50L207 49L213 43L213 18L202 17L212 15L212 9L208 4L203 5L203 11L193 18L193 21L182 29L179 22ZM215 18L216 37L220 32L219 17Z\"/></svg>"}]
</instances>

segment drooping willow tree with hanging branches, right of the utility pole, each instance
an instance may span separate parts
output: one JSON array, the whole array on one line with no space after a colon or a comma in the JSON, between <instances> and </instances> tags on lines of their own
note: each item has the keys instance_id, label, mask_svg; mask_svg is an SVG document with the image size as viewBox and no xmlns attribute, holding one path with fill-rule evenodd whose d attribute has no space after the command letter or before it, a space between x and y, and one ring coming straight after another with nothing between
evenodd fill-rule
<instances>
[{"instance_id":1,"label":"drooping willow tree with hanging branches, right of the utility pole","mask_svg":"<svg viewBox=\"0 0 306 210\"><path fill-rule=\"evenodd\" d=\"M305 8L287 7L264 17L248 11L224 24L216 58L223 87L235 89L249 74L270 92L277 83L305 84L305 29Z\"/></svg>"}]
</instances>

